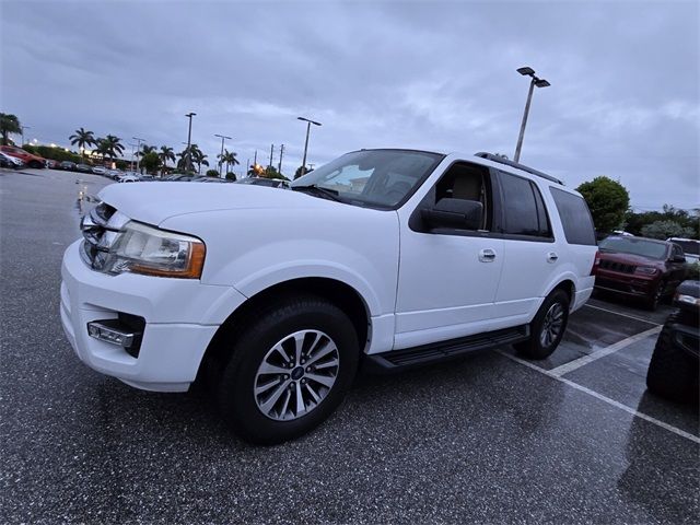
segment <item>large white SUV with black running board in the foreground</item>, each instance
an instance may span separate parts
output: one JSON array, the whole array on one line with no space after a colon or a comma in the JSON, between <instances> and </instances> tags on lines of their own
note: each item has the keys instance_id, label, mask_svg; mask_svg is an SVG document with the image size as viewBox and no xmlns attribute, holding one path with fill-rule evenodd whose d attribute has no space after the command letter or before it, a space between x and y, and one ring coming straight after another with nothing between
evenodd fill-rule
<instances>
[{"instance_id":1,"label":"large white SUV with black running board in the foreground","mask_svg":"<svg viewBox=\"0 0 700 525\"><path fill-rule=\"evenodd\" d=\"M89 366L150 390L199 376L252 442L325 420L361 361L396 370L559 345L591 295L579 194L487 153L348 153L295 180L112 185L63 257Z\"/></svg>"}]
</instances>

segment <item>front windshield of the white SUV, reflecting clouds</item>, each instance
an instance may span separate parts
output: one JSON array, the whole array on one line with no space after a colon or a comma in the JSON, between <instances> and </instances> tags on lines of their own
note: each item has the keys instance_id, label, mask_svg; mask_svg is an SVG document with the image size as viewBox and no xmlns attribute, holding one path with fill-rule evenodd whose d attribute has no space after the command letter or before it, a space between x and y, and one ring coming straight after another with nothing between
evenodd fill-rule
<instances>
[{"instance_id":1,"label":"front windshield of the white SUV, reflecting clouds","mask_svg":"<svg viewBox=\"0 0 700 525\"><path fill-rule=\"evenodd\" d=\"M292 188L316 186L337 192L343 202L393 208L442 160L425 151L354 151L294 180Z\"/></svg>"}]
</instances>

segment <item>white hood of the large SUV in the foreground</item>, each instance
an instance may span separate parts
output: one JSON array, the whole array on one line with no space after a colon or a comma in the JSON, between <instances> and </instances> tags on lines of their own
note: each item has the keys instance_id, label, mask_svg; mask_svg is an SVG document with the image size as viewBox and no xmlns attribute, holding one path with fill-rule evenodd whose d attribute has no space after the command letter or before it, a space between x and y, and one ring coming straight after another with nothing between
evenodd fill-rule
<instances>
[{"instance_id":1,"label":"white hood of the large SUV in the foreground","mask_svg":"<svg viewBox=\"0 0 700 525\"><path fill-rule=\"evenodd\" d=\"M130 219L160 224L168 218L213 210L308 209L350 206L291 191L248 184L112 184L98 197Z\"/></svg>"}]
</instances>

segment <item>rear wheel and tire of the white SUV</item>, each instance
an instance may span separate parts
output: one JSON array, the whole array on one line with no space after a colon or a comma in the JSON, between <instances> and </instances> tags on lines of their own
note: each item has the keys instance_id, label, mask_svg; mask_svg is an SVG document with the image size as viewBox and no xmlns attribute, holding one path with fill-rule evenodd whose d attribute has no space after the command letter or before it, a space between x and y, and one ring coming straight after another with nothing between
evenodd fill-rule
<instances>
[{"instance_id":1,"label":"rear wheel and tire of the white SUV","mask_svg":"<svg viewBox=\"0 0 700 525\"><path fill-rule=\"evenodd\" d=\"M569 322L569 295L555 290L545 299L530 323L530 337L513 345L515 350L528 359L547 359L552 354L567 330Z\"/></svg>"}]
</instances>

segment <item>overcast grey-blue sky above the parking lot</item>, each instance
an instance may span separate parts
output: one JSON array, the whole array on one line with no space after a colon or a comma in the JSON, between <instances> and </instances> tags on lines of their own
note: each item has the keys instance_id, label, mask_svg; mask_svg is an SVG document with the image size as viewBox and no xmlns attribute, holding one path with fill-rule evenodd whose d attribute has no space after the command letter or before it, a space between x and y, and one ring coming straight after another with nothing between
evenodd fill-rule
<instances>
[{"instance_id":1,"label":"overcast grey-blue sky above the parking lot","mask_svg":"<svg viewBox=\"0 0 700 525\"><path fill-rule=\"evenodd\" d=\"M0 0L0 110L27 139L79 127L282 172L359 148L514 154L575 187L619 179L635 209L700 207L698 1ZM130 155L131 148L127 148ZM129 156L128 155L128 156Z\"/></svg>"}]
</instances>

